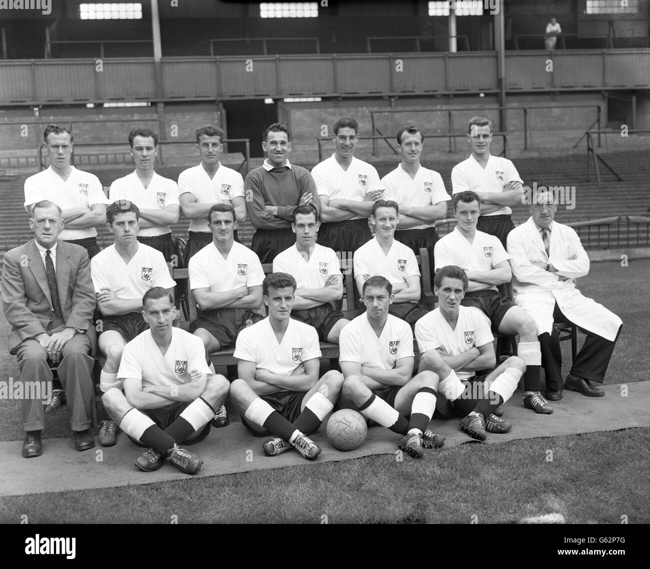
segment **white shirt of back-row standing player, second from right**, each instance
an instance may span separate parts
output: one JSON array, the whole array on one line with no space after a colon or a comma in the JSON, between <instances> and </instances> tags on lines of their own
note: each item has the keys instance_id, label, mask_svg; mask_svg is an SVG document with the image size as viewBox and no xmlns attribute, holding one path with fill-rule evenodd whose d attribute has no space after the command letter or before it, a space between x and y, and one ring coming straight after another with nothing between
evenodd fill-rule
<instances>
[{"instance_id":1,"label":"white shirt of back-row standing player, second from right","mask_svg":"<svg viewBox=\"0 0 650 569\"><path fill-rule=\"evenodd\" d=\"M415 178L411 179L402 168L398 165L395 170L389 172L382 178L384 200L393 200L397 205L406 205L408 207L426 207L435 205L440 202L447 202L451 196L445 189L445 182L442 176L435 170L429 170L420 166L415 173ZM435 222L422 224L411 229L426 229L434 227ZM398 227L399 230L399 227Z\"/></svg>"}]
</instances>

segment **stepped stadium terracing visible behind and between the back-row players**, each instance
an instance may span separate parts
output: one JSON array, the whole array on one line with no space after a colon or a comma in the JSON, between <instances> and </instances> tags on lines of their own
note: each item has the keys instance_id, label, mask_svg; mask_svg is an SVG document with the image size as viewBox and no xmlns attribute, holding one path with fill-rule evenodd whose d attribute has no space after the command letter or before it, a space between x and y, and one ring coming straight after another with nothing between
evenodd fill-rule
<instances>
[{"instance_id":1,"label":"stepped stadium terracing visible behind and between the back-row players","mask_svg":"<svg viewBox=\"0 0 650 569\"><path fill-rule=\"evenodd\" d=\"M586 157L584 154L570 154L564 157L536 157L519 158L515 161L519 174L525 181L525 185L532 185L533 181L543 181L553 186L575 186L575 209L564 209L560 205L557 219L560 222L573 222L613 215L645 215L650 216L650 161L647 152L638 150L633 152L605 152L603 158L618 172L623 181L616 178L601 165L601 181L599 187L595 181L595 172L591 166L590 181L586 176ZM261 163L261 159L255 160L252 166ZM384 176L397 165L397 159L375 163L380 176ZM456 159L452 161L440 160L435 163L424 161L423 165L441 172L445 181L445 187L451 192L451 169ZM313 168L313 164L304 164L306 168ZM185 166L187 167L187 166ZM157 172L166 178L177 179L183 166L162 166ZM110 183L132 171L132 166L103 166L91 170L98 176L102 185L107 189ZM23 184L25 178L31 175L31 171L24 176L12 180L10 177L5 181L0 179L0 200L3 207L0 209L0 254L4 254L10 248L25 243L31 238L29 231L29 216L23 209ZM448 209L448 217L451 217L451 209ZM526 207L519 206L513 212L513 218L521 222L528 218ZM176 237L187 239L187 228L189 220L181 217L179 223L172 226ZM110 245L112 239L105 229L99 231L100 246ZM445 231L443 230L443 233ZM246 245L250 245L252 238L252 227L250 222L240 225L240 239Z\"/></svg>"}]
</instances>

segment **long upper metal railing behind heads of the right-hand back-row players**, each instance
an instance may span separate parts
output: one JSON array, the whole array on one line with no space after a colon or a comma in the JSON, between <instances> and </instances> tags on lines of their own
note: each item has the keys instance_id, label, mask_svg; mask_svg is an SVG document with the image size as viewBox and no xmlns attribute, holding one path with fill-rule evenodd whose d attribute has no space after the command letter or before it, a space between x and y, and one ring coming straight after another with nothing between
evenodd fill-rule
<instances>
[{"instance_id":1,"label":"long upper metal railing behind heads of the right-hand back-row players","mask_svg":"<svg viewBox=\"0 0 650 569\"><path fill-rule=\"evenodd\" d=\"M377 114L404 114L404 113L412 113L412 112L447 112L447 134L438 135L438 136L449 137L449 152L456 152L455 144L453 144L453 149L452 149L452 140L454 138L457 138L459 135L453 134L454 130L456 129L454 128L452 112L454 111L460 111L460 112L522 111L523 129L524 129L524 150L528 150L528 139L532 138L532 135L530 134L530 128L528 127L528 111L532 111L534 109L590 109L590 108L596 109L596 118L593 121L593 123L588 127L587 130L590 130L593 126L598 126L598 132L600 132L602 116L603 116L603 105L593 105L593 104L590 105L526 105L526 107L448 107L447 109L389 109L387 111L370 111L370 128L371 128L372 135L374 135L374 133L379 133L381 135L379 129L376 127L375 116ZM461 136L465 137L466 135L461 135ZM378 138L382 138L382 137L383 135ZM580 140L582 140L583 137L584 135L580 137ZM432 138L432 137L427 135L427 138ZM580 140L578 140L578 142L575 143L573 148L578 146ZM532 147L532 141L530 143L530 146ZM600 135L598 137L598 146L601 146ZM377 155L377 144L374 141L372 142L372 155L373 156Z\"/></svg>"}]
</instances>

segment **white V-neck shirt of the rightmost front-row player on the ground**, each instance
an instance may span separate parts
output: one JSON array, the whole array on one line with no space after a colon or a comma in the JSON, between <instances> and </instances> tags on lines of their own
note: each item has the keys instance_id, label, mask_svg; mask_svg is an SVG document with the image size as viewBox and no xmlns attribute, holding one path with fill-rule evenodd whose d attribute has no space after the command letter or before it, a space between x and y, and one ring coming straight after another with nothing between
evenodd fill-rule
<instances>
[{"instance_id":1,"label":"white V-neck shirt of the rightmost front-row player on the ground","mask_svg":"<svg viewBox=\"0 0 650 569\"><path fill-rule=\"evenodd\" d=\"M459 308L454 330L440 308L426 313L415 323L415 339L420 354L443 347L449 356L458 356L474 346L478 348L494 341L487 319L480 310L467 306ZM476 374L473 371L457 371L456 375L459 379L469 379Z\"/></svg>"}]
</instances>

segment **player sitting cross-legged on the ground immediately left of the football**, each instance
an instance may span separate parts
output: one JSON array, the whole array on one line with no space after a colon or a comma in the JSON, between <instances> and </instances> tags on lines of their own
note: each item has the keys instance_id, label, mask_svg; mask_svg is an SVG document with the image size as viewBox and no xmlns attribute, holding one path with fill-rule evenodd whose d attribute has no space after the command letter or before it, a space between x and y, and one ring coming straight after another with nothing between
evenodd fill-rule
<instances>
[{"instance_id":1,"label":"player sitting cross-legged on the ground immediately left of the football","mask_svg":"<svg viewBox=\"0 0 650 569\"><path fill-rule=\"evenodd\" d=\"M263 444L266 456L294 447L314 460L320 447L306 435L316 432L332 410L343 376L331 370L318 379L318 332L291 318L296 280L274 272L262 287L268 317L237 337L239 379L230 386L230 398L255 436L276 435Z\"/></svg>"}]
</instances>

